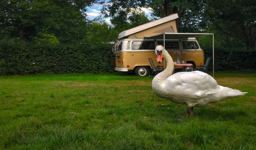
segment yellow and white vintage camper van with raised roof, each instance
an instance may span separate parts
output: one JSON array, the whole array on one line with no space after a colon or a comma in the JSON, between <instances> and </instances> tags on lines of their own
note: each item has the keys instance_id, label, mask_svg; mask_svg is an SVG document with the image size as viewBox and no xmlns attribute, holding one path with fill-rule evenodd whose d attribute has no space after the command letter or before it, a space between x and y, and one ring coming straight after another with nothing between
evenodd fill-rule
<instances>
[{"instance_id":1,"label":"yellow and white vintage camper van with raised roof","mask_svg":"<svg viewBox=\"0 0 256 150\"><path fill-rule=\"evenodd\" d=\"M157 45L163 45L174 62L192 64L184 66L184 71L193 71L196 66L204 65L204 51L195 39L198 34L177 33L177 17L177 14L172 14L121 32L112 50L116 55L115 71L148 76L152 70L148 58L152 58L155 65L166 68L166 63L157 63Z\"/></svg>"}]
</instances>

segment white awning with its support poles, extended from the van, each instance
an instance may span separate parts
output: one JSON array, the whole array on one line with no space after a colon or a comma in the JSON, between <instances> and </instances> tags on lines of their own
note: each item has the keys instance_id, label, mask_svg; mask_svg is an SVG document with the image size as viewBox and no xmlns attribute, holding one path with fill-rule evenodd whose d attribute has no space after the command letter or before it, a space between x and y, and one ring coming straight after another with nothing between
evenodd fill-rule
<instances>
[{"instance_id":1,"label":"white awning with its support poles, extended from the van","mask_svg":"<svg viewBox=\"0 0 256 150\"><path fill-rule=\"evenodd\" d=\"M165 40L187 40L188 38L195 38L195 37L202 37L212 35L212 71L213 71L213 78L214 78L214 34L213 33L162 33L153 35L150 37L144 37L144 39L150 40L163 40L163 47L165 47Z\"/></svg>"}]
</instances>

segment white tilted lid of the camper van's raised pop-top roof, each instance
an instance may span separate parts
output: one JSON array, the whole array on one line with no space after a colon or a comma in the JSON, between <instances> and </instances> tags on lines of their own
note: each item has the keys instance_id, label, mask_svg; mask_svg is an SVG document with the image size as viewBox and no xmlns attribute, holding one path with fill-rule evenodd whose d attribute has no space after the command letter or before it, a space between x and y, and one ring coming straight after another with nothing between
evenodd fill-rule
<instances>
[{"instance_id":1,"label":"white tilted lid of the camper van's raised pop-top roof","mask_svg":"<svg viewBox=\"0 0 256 150\"><path fill-rule=\"evenodd\" d=\"M175 20L177 18L178 18L178 14L172 14L172 15L169 15L167 17L163 17L163 18L160 18L158 20L151 21L150 23L145 23L143 25L139 25L139 26L131 28L129 30L122 31L121 33L119 33L118 38L126 37L128 35L137 33L139 31L143 31L147 28L151 28L151 27L154 27L156 25L160 25L160 24L166 23L168 21Z\"/></svg>"}]
</instances>

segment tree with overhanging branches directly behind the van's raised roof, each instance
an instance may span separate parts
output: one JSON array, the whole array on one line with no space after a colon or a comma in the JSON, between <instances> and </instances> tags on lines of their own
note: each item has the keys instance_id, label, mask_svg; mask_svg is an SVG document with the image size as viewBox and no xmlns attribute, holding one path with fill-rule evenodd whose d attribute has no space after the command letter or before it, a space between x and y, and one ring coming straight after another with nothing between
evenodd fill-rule
<instances>
[{"instance_id":1,"label":"tree with overhanging branches directly behind the van's raised roof","mask_svg":"<svg viewBox=\"0 0 256 150\"><path fill-rule=\"evenodd\" d=\"M114 17L117 14L126 18L132 10L151 8L155 17L166 17L177 13L177 26L180 25L180 18L186 10L195 11L198 9L198 0L110 0L108 3L102 2L102 14L105 17ZM121 15L120 15L121 14Z\"/></svg>"}]
</instances>

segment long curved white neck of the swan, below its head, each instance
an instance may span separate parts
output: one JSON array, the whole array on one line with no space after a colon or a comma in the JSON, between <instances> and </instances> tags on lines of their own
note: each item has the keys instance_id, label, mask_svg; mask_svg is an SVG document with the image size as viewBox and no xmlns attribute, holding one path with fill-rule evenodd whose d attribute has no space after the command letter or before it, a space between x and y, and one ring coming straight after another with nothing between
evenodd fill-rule
<instances>
[{"instance_id":1,"label":"long curved white neck of the swan, below its head","mask_svg":"<svg viewBox=\"0 0 256 150\"><path fill-rule=\"evenodd\" d=\"M163 50L163 57L166 60L167 67L164 71L160 72L159 74L157 74L157 76L155 76L155 78L158 78L158 81L164 81L166 78L171 76L174 69L172 57L165 49Z\"/></svg>"}]
</instances>

